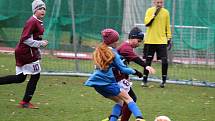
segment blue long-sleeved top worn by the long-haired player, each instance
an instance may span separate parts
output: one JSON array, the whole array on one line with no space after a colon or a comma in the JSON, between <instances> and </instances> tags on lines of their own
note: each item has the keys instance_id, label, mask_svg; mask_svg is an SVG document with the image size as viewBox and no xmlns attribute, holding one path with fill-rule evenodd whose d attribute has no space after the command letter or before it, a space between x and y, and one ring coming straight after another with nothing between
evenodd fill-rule
<instances>
[{"instance_id":1,"label":"blue long-sleeved top worn by the long-haired player","mask_svg":"<svg viewBox=\"0 0 215 121\"><path fill-rule=\"evenodd\" d=\"M112 49L115 57L113 62L109 65L107 70L96 69L89 79L85 82L86 86L102 86L108 85L111 83L117 83L112 69L117 68L122 73L125 74L134 74L135 70L127 67L120 58L120 55L116 52L115 49Z\"/></svg>"}]
</instances>

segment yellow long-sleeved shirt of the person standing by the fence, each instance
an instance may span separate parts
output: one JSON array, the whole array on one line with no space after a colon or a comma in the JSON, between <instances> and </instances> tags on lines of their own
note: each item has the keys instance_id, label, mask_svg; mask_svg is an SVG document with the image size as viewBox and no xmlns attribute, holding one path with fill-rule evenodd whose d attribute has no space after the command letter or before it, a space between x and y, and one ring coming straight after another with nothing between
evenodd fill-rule
<instances>
[{"instance_id":1,"label":"yellow long-sleeved shirt of the person standing by the fence","mask_svg":"<svg viewBox=\"0 0 215 121\"><path fill-rule=\"evenodd\" d=\"M156 7L147 9L144 24L147 25L154 17ZM161 8L154 21L147 27L144 44L167 44L171 39L170 16L165 8Z\"/></svg>"}]
</instances>

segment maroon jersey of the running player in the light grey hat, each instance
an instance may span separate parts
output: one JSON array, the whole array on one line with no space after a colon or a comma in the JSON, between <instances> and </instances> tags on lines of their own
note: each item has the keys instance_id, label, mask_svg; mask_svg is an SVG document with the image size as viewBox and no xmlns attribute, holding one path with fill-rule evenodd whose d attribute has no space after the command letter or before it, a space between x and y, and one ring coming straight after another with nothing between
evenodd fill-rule
<instances>
[{"instance_id":1,"label":"maroon jersey of the running player in the light grey hat","mask_svg":"<svg viewBox=\"0 0 215 121\"><path fill-rule=\"evenodd\" d=\"M43 32L44 27L42 21L36 19L35 16L27 20L20 41L15 49L16 66L23 66L41 59L39 47L31 47L24 42L29 38L37 41L42 40Z\"/></svg>"}]
</instances>

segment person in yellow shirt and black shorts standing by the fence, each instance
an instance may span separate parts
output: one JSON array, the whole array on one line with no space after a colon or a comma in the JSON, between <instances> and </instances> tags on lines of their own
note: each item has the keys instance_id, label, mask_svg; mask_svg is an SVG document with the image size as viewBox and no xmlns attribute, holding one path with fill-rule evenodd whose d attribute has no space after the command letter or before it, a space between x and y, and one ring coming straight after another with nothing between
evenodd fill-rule
<instances>
[{"instance_id":1,"label":"person in yellow shirt and black shorts standing by the fence","mask_svg":"<svg viewBox=\"0 0 215 121\"><path fill-rule=\"evenodd\" d=\"M154 6L146 11L144 23L147 27L144 39L144 58L146 64L151 65L153 56L156 52L157 57L162 63L162 82L161 88L165 87L168 71L167 49L172 47L170 16L167 9L163 7L164 0L153 0ZM142 86L146 87L148 82L148 71L144 70Z\"/></svg>"}]
</instances>

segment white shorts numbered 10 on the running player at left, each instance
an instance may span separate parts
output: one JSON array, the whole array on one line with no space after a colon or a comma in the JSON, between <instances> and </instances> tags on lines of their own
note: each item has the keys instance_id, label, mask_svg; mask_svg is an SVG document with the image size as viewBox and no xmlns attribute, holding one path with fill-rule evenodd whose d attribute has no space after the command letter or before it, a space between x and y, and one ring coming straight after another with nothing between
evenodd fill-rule
<instances>
[{"instance_id":1,"label":"white shorts numbered 10 on the running player at left","mask_svg":"<svg viewBox=\"0 0 215 121\"><path fill-rule=\"evenodd\" d=\"M39 60L25 64L23 66L16 66L16 75L23 73L24 75L26 74L31 74L35 75L41 72L41 66Z\"/></svg>"}]
</instances>

